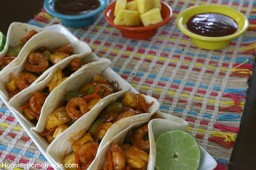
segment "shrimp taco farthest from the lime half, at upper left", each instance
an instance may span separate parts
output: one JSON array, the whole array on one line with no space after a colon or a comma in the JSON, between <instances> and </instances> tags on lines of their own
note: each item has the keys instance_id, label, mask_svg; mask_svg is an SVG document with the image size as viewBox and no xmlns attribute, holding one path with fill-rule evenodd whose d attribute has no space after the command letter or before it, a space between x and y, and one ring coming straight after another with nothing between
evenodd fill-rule
<instances>
[{"instance_id":1,"label":"shrimp taco farthest from the lime half, at upper left","mask_svg":"<svg viewBox=\"0 0 256 170\"><path fill-rule=\"evenodd\" d=\"M11 23L7 31L4 49L0 52L0 70L15 66L15 64L9 64L17 58L26 42L32 36L42 31L44 31L43 28L34 25L19 22ZM7 65L8 67L6 67Z\"/></svg>"}]
</instances>

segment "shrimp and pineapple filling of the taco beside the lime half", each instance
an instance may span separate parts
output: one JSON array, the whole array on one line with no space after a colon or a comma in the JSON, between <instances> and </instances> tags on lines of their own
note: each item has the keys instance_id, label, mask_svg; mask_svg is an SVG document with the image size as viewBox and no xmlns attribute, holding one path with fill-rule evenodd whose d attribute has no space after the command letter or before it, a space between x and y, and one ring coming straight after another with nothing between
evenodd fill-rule
<instances>
[{"instance_id":1,"label":"shrimp and pineapple filling of the taco beside the lime half","mask_svg":"<svg viewBox=\"0 0 256 170\"><path fill-rule=\"evenodd\" d=\"M161 119L161 117L154 114L150 120L156 118ZM150 151L148 122L129 130L125 135L123 144L114 143L111 145L103 170L147 169Z\"/></svg>"}]
</instances>

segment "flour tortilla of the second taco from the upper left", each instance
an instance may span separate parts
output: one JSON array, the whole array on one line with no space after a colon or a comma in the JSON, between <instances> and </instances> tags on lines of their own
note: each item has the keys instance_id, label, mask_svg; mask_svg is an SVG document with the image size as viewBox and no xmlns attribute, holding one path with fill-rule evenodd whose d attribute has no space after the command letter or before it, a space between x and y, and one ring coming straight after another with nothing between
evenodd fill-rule
<instances>
[{"instance_id":1,"label":"flour tortilla of the second taco from the upper left","mask_svg":"<svg viewBox=\"0 0 256 170\"><path fill-rule=\"evenodd\" d=\"M40 34L36 34L31 38L22 50L19 53L19 56L16 58L18 65L9 68L7 70L2 70L0 72L0 93L2 94L5 100L8 100L8 92L5 89L5 84L14 79L19 73L21 73L25 69L27 56L37 50L39 47L46 46L48 48L59 48L64 46L65 44L71 45L74 49L75 55L71 55L68 58L61 60L61 62L54 64L52 67L48 68L42 75L39 76L37 80L35 80L33 84L37 84L38 82L44 80L50 71L53 68L59 67L60 65L67 63L69 58L81 58L81 56L85 56L91 53L91 48L88 44L83 41L69 41L69 39L63 35L62 33L57 33L53 31L43 31ZM12 64L12 63L10 63Z\"/></svg>"}]
</instances>

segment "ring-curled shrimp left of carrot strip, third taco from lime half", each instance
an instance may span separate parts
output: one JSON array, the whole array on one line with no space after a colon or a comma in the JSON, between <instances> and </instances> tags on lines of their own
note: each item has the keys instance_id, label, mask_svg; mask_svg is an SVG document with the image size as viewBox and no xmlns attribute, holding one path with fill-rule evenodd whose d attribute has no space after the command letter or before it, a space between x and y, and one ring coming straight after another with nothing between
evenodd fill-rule
<instances>
[{"instance_id":1,"label":"ring-curled shrimp left of carrot strip, third taco from lime half","mask_svg":"<svg viewBox=\"0 0 256 170\"><path fill-rule=\"evenodd\" d=\"M66 112L68 116L76 121L89 111L87 103L80 97L71 98L66 105Z\"/></svg>"}]
</instances>

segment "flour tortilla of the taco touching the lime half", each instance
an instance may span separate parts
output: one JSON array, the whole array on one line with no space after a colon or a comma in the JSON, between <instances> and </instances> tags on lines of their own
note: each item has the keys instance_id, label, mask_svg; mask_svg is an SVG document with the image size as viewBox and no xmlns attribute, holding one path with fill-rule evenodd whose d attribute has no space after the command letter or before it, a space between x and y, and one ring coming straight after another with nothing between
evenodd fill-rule
<instances>
[{"instance_id":1,"label":"flour tortilla of the taco touching the lime half","mask_svg":"<svg viewBox=\"0 0 256 170\"><path fill-rule=\"evenodd\" d=\"M158 137L158 135L167 130L174 130L174 129L185 130L188 126L188 122L186 122L185 120L177 116L163 113L160 111L157 111L156 113L157 113L157 116L161 117L161 119L152 119L148 122L148 137L150 140L150 154L149 154L148 165L147 165L148 170L155 169L155 139ZM105 163L105 159L108 155L108 151L111 145L114 143L117 143L119 145L123 144L125 136L129 130L135 127L139 127L146 122L147 121L133 123L129 127L127 127L125 130L121 131L112 139L110 139L101 148L101 150L98 150L96 158L91 163L88 170L103 169L103 165Z\"/></svg>"}]
</instances>

